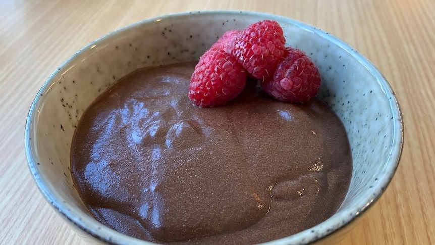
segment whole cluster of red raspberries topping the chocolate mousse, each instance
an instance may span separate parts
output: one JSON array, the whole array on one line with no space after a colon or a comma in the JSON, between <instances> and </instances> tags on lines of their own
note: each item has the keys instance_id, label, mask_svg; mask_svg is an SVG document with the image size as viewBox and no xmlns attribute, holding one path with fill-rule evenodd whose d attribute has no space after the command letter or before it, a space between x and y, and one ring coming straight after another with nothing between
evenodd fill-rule
<instances>
[{"instance_id":1,"label":"whole cluster of red raspberries topping the chocolate mousse","mask_svg":"<svg viewBox=\"0 0 435 245\"><path fill-rule=\"evenodd\" d=\"M319 71L304 52L285 43L283 29L273 20L227 31L200 57L189 99L199 107L226 104L242 92L250 76L279 101L307 102L319 90Z\"/></svg>"}]
</instances>

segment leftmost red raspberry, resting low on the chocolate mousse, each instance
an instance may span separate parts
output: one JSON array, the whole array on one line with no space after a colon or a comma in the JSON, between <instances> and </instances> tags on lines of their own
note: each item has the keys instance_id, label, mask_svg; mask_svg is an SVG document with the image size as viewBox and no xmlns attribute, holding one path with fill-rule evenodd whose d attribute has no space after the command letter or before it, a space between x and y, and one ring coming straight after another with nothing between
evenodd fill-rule
<instances>
[{"instance_id":1,"label":"leftmost red raspberry, resting low on the chocolate mousse","mask_svg":"<svg viewBox=\"0 0 435 245\"><path fill-rule=\"evenodd\" d=\"M233 100L246 85L246 70L236 58L218 48L206 51L192 74L189 99L199 107L214 107Z\"/></svg>"}]
</instances>

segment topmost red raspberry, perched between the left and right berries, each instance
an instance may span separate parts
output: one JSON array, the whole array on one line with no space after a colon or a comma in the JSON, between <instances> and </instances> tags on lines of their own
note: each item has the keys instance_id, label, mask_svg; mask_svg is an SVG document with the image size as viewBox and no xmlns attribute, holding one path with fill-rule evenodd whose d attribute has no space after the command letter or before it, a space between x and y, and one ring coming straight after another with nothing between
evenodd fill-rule
<instances>
[{"instance_id":1,"label":"topmost red raspberry, perched between the left and right berries","mask_svg":"<svg viewBox=\"0 0 435 245\"><path fill-rule=\"evenodd\" d=\"M235 37L230 52L253 77L264 81L274 74L284 56L285 42L278 22L264 20L242 30Z\"/></svg>"}]
</instances>

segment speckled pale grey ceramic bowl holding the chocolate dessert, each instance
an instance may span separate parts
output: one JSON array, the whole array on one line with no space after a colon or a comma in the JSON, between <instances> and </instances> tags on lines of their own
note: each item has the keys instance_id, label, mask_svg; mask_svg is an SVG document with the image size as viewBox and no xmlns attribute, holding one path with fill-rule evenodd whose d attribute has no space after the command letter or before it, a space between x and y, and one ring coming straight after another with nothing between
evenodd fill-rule
<instances>
[{"instance_id":1,"label":"speckled pale grey ceramic bowl holding the chocolate dessert","mask_svg":"<svg viewBox=\"0 0 435 245\"><path fill-rule=\"evenodd\" d=\"M305 51L322 76L318 97L341 118L352 149L349 191L328 220L268 244L332 244L384 192L403 144L401 111L386 79L362 55L329 33L262 13L212 11L162 16L133 24L84 47L45 82L27 118L25 149L30 171L47 201L84 238L115 244L150 244L93 219L73 187L70 146L83 111L105 88L145 66L193 61L229 29L274 19L288 44Z\"/></svg>"}]
</instances>

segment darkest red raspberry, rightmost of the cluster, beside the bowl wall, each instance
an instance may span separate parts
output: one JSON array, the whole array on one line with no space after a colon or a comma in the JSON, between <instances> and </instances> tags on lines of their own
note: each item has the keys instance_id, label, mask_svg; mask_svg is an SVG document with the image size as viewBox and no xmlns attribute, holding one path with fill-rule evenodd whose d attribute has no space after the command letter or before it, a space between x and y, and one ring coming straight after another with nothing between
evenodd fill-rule
<instances>
[{"instance_id":1,"label":"darkest red raspberry, rightmost of the cluster, beside the bowl wall","mask_svg":"<svg viewBox=\"0 0 435 245\"><path fill-rule=\"evenodd\" d=\"M301 50L287 47L273 78L261 82L263 90L275 99L305 103L317 94L320 74L311 59Z\"/></svg>"}]
</instances>

